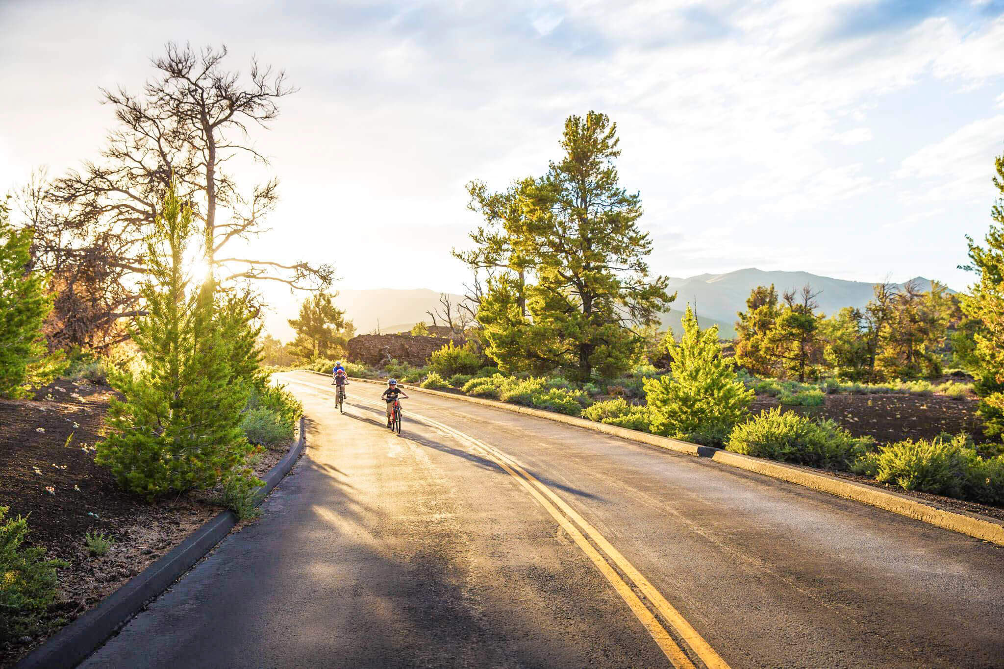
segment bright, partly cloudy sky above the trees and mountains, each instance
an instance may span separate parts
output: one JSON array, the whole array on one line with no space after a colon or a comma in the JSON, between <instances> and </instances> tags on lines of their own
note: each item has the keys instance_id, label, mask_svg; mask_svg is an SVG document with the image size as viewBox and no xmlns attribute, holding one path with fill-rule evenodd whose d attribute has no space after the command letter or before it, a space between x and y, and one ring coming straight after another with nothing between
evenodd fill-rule
<instances>
[{"instance_id":1,"label":"bright, partly cloudy sky above the trees and mountains","mask_svg":"<svg viewBox=\"0 0 1004 669\"><path fill-rule=\"evenodd\" d=\"M1004 153L1001 1L0 0L0 192L96 157L98 87L139 90L168 41L298 88L252 132L282 200L250 246L334 263L336 288L460 292L464 185L542 175L590 109L674 277L965 288Z\"/></svg>"}]
</instances>

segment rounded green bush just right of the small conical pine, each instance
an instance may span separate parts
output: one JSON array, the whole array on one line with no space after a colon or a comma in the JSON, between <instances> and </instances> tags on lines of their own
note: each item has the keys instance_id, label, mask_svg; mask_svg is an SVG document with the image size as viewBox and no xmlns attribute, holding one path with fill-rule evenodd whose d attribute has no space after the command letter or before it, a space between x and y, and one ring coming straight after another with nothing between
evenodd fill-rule
<instances>
[{"instance_id":1,"label":"rounded green bush just right of the small conical pine","mask_svg":"<svg viewBox=\"0 0 1004 669\"><path fill-rule=\"evenodd\" d=\"M726 448L754 457L846 469L871 443L868 437L851 436L832 420L816 421L775 407L736 425Z\"/></svg>"}]
</instances>

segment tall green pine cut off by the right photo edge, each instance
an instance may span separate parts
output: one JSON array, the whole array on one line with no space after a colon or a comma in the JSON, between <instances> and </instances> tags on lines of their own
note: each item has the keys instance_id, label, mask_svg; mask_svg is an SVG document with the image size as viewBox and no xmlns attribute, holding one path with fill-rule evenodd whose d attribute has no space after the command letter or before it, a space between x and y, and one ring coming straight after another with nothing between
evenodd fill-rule
<instances>
[{"instance_id":1,"label":"tall green pine cut off by the right photo edge","mask_svg":"<svg viewBox=\"0 0 1004 669\"><path fill-rule=\"evenodd\" d=\"M1004 196L1004 155L994 161L994 186ZM962 299L962 309L979 322L973 335L974 355L979 361L976 392L984 432L1004 434L1004 197L991 209L993 223L987 231L986 247L969 241L970 264L963 269L975 272L977 282Z\"/></svg>"}]
</instances>

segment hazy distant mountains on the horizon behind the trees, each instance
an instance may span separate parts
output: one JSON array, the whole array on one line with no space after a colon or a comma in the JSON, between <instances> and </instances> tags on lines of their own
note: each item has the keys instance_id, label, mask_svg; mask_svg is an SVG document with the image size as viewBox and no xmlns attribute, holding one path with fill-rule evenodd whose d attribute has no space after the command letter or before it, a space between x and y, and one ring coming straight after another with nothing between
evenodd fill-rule
<instances>
[{"instance_id":1,"label":"hazy distant mountains on the horizon behind the trees","mask_svg":"<svg viewBox=\"0 0 1004 669\"><path fill-rule=\"evenodd\" d=\"M917 277L913 281L929 290L931 280ZM905 282L906 283L906 282ZM904 284L897 284L903 286ZM677 293L673 309L663 316L664 326L672 327L678 335L682 332L681 319L688 304L697 308L701 327L717 325L723 339L735 337L736 313L745 311L746 298L757 286L777 289L778 296L786 290L800 290L809 285L819 293L816 301L819 310L832 314L843 307L863 307L871 299L874 284L861 281L845 281L831 277L821 277L808 272L764 272L755 268L736 270L727 274L701 274L686 279L671 279L670 291ZM368 332L401 332L411 329L419 321L432 324L426 311L439 307L440 294L428 289L397 290L382 288L373 290L343 290L335 299L335 304L345 310L346 316L355 325L357 334ZM460 295L450 294L457 303ZM292 338L292 330L286 318L295 316L295 308L289 313L271 314L266 319L266 329L283 341Z\"/></svg>"}]
</instances>

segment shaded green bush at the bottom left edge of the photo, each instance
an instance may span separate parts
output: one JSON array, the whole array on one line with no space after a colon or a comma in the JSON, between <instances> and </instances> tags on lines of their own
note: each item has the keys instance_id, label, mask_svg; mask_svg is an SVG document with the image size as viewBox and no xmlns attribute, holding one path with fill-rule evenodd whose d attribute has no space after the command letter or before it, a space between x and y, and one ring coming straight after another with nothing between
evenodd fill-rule
<instances>
[{"instance_id":1,"label":"shaded green bush at the bottom left edge of the photo","mask_svg":"<svg viewBox=\"0 0 1004 669\"><path fill-rule=\"evenodd\" d=\"M45 549L21 548L27 519L4 520L0 507L0 642L34 633L39 617L56 599L56 568L61 560L45 560Z\"/></svg>"}]
</instances>

